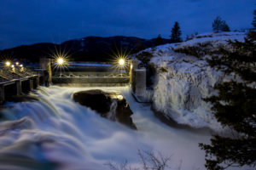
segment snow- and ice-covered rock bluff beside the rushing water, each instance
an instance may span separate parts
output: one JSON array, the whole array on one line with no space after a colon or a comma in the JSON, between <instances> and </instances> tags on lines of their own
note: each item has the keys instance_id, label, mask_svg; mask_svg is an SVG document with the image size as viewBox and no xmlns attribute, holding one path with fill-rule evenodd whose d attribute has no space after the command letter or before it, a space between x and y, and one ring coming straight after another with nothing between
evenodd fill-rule
<instances>
[{"instance_id":1,"label":"snow- and ice-covered rock bluff beside the rushing water","mask_svg":"<svg viewBox=\"0 0 256 170\"><path fill-rule=\"evenodd\" d=\"M153 54L148 65L153 65L156 71L152 98L154 109L180 124L219 131L221 126L212 115L211 104L203 99L217 93L213 87L224 80L223 72L207 64L208 54L195 57L175 51L207 43L200 49L210 47L207 50L212 52L220 46L228 48L228 39L242 41L243 37L244 33L218 33L144 50Z\"/></svg>"}]
</instances>

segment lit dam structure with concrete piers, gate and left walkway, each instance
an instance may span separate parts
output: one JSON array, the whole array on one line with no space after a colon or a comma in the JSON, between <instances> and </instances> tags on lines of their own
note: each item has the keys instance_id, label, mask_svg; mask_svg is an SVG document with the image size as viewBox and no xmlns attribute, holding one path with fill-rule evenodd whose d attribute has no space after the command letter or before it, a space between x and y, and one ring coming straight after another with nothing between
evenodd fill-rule
<instances>
[{"instance_id":1,"label":"lit dam structure with concrete piers, gate and left walkway","mask_svg":"<svg viewBox=\"0 0 256 170\"><path fill-rule=\"evenodd\" d=\"M146 92L146 70L137 68L137 60L126 61L122 69L112 63L68 63L57 65L52 59L40 59L40 69L20 65L2 65L0 68L0 102L9 96L19 96L39 85L79 87L131 86L140 98Z\"/></svg>"}]
</instances>

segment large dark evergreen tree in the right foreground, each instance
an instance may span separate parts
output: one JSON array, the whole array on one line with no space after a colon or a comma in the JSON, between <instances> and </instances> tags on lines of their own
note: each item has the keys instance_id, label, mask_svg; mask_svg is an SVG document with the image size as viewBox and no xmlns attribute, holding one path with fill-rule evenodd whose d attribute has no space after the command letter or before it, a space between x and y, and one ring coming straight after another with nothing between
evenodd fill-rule
<instances>
[{"instance_id":1,"label":"large dark evergreen tree in the right foreground","mask_svg":"<svg viewBox=\"0 0 256 170\"><path fill-rule=\"evenodd\" d=\"M206 167L211 170L226 167L256 165L256 32L245 42L231 42L231 51L224 48L208 59L225 74L234 77L218 84L218 95L207 98L212 111L223 127L229 127L229 137L214 135L211 144L200 144L206 150Z\"/></svg>"}]
</instances>

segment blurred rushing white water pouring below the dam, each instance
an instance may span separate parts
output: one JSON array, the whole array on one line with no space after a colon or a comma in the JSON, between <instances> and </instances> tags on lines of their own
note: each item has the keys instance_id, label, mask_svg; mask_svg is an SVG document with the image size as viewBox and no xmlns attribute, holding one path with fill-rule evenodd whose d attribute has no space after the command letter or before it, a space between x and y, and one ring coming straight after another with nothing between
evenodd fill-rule
<instances>
[{"instance_id":1,"label":"blurred rushing white water pouring below the dam","mask_svg":"<svg viewBox=\"0 0 256 170\"><path fill-rule=\"evenodd\" d=\"M209 133L166 126L154 117L149 105L132 98L129 88L103 88L125 96L138 129L132 130L74 102L73 93L86 89L40 88L30 94L39 101L5 104L0 169L102 170L108 169L108 161L139 164L137 150L172 155L172 169L180 164L185 170L205 169L205 154L198 143L208 143Z\"/></svg>"}]
</instances>

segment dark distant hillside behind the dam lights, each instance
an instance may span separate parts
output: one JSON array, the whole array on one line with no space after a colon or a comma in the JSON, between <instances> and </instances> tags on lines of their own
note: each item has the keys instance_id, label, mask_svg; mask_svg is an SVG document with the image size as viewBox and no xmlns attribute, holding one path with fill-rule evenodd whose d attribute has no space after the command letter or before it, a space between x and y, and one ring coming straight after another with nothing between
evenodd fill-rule
<instances>
[{"instance_id":1,"label":"dark distant hillside behind the dam lights","mask_svg":"<svg viewBox=\"0 0 256 170\"><path fill-rule=\"evenodd\" d=\"M169 42L167 39L159 41L157 38L146 40L138 37L84 37L69 40L61 44L36 43L9 48L0 51L0 56L12 59L29 59L33 62L42 57L50 57L57 51L67 52L70 60L76 61L109 61L117 50L127 50L134 54L145 48Z\"/></svg>"}]
</instances>

